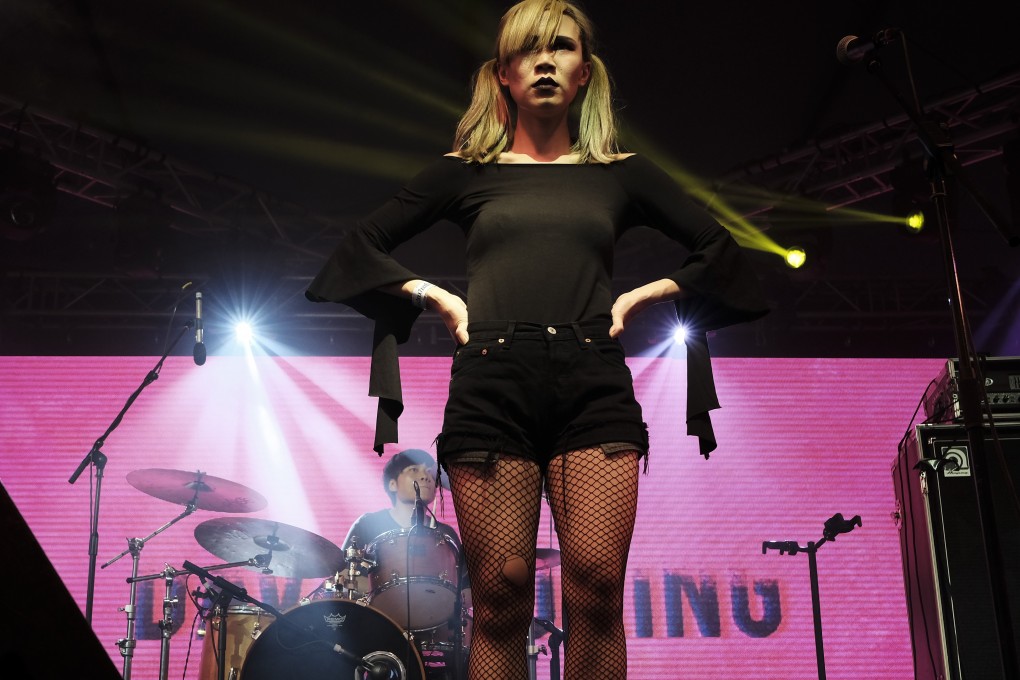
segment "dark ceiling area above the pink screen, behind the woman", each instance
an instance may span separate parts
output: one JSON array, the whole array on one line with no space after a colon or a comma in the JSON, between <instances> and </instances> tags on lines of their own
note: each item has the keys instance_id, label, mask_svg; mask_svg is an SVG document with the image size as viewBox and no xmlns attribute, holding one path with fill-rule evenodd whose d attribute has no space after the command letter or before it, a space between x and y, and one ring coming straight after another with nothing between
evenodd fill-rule
<instances>
[{"instance_id":1,"label":"dark ceiling area above the pink screen, behind the woman","mask_svg":"<svg viewBox=\"0 0 1020 680\"><path fill-rule=\"evenodd\" d=\"M923 146L898 101L916 92L960 161L947 213L977 350L1020 355L1020 248L1000 230L1015 232L1020 214L1020 174L1006 172L1018 159L1004 153L1017 140L1020 50L999 3L583 5L627 148L809 250L797 271L752 251L774 311L719 332L717 354L954 356L934 216L913 237L874 219L912 200L931 207ZM357 215L448 149L506 6L5 0L0 353L158 354L187 281L204 294L213 351L244 311L294 351L366 352L363 320L305 302L304 286ZM889 28L906 51L895 41L871 67L836 61L845 36ZM35 212L11 216L32 201ZM621 289L682 257L643 239L621 243ZM438 225L401 256L462 286L459 248ZM192 316L184 300L178 314ZM668 320L657 308L625 342L652 346ZM426 316L406 351L452 347Z\"/></svg>"}]
</instances>

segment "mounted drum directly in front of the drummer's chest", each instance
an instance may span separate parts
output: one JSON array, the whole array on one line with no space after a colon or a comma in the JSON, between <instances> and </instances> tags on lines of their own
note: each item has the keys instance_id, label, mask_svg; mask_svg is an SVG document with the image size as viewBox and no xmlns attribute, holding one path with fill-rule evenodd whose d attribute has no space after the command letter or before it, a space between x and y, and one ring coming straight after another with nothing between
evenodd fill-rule
<instances>
[{"instance_id":1,"label":"mounted drum directly in front of the drummer's chest","mask_svg":"<svg viewBox=\"0 0 1020 680\"><path fill-rule=\"evenodd\" d=\"M428 630L453 616L457 545L427 527L384 533L369 546L376 569L368 604L405 630Z\"/></svg>"}]
</instances>

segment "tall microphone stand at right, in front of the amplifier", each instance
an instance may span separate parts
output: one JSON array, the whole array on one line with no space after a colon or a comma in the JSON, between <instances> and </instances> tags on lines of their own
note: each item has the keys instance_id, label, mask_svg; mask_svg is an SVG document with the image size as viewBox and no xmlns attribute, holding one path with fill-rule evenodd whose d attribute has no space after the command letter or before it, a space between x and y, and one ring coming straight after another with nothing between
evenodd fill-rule
<instances>
[{"instance_id":1,"label":"tall microphone stand at right, in front of the amplifier","mask_svg":"<svg viewBox=\"0 0 1020 680\"><path fill-rule=\"evenodd\" d=\"M880 37L880 39L879 39ZM881 61L875 55L876 47L881 47L894 38L899 38L903 45L904 55L907 61L908 74L910 75L911 90L913 94L913 104L908 103L896 86L889 81L882 70ZM931 184L931 201L934 204L937 216L938 231L941 237L944 264L946 267L946 277L949 289L950 308L953 311L953 330L957 346L957 356L960 359L960 374L957 378L960 397L960 410L963 416L964 428L967 430L967 439L970 446L971 470L974 480L974 490L977 500L978 520L981 529L981 538L984 545L985 563L988 571L988 582L991 586L991 603L994 610L997 631L999 637L999 648L1002 652L1003 677L1020 678L1020 664L1017 661L1017 649L1013 635L1013 625L1010 621L1008 611L1007 583L1003 570L1003 551L999 542L999 532L997 530L994 508L991 501L991 486L988 477L988 459L984 451L983 418L981 414L981 404L987 403L984 391L983 380L979 380L980 368L978 366L978 356L974 349L973 337L970 333L970 324L967 320L964 309L963 296L960 289L960 278L956 265L956 256L953 249L953 239L950 232L949 213L947 211L947 176L954 176L959 184L967 191L968 195L974 199L980 207L984 216L1000 231L1010 247L1020 245L1020 236L1011 233L1005 226L1006 222L998 215L997 211L980 195L973 182L967 176L960 161L957 159L950 140L949 130L946 126L939 125L936 121L925 117L920 100L917 97L917 89L914 87L913 75L910 73L910 55L907 50L906 36L901 31L886 30L876 34L873 44L864 44L872 49L867 54L857 56L852 54L853 47L859 42L855 36L847 36L836 47L836 57L844 63L865 59L868 72L878 77L883 86L889 91L897 103L910 117L911 122L917 133L928 162L928 179ZM992 418L988 418L988 426L994 428ZM1001 450L996 449L998 454L997 462L1001 472L1009 480L1009 469L1003 459ZM1012 483L1008 484L1012 487ZM1015 493L1014 493L1015 496ZM1017 503L1017 499L1012 499Z\"/></svg>"}]
</instances>

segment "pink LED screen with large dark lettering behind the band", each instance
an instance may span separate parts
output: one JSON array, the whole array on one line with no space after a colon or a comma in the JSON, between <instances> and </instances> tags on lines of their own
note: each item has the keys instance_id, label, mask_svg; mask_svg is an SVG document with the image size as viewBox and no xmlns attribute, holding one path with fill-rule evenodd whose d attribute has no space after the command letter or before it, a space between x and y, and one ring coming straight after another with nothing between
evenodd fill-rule
<instances>
[{"instance_id":1,"label":"pink LED screen with large dark lettering behind the band","mask_svg":"<svg viewBox=\"0 0 1020 680\"><path fill-rule=\"evenodd\" d=\"M155 365L147 357L0 358L0 476L53 567L84 610L89 565L90 475L68 477ZM731 680L817 677L808 560L768 552L766 540L801 544L826 519L860 515L862 526L818 552L827 677L912 677L911 644L890 466L938 360L716 359L723 408L714 415L711 460L683 433L682 358L629 362L652 452L641 480L630 552L626 629L631 678ZM435 453L450 362L402 359L406 411L401 448ZM98 564L176 518L184 506L145 493L133 471L205 472L245 485L268 504L250 514L198 510L146 541L139 574L164 564L224 563L195 529L216 518L283 522L340 544L361 513L388 507L371 451L375 400L368 359L171 357L106 440ZM446 499L440 519L456 526ZM539 545L555 547L544 511ZM132 557L96 576L93 628L117 668ZM216 572L289 611L322 579ZM562 625L559 573L539 573L537 615ZM207 642L175 579L170 678L202 670ZM164 582L138 586L132 675L158 677ZM45 606L41 600L40 606ZM248 615L254 616L254 615ZM521 641L522 649L526 640ZM551 639L538 644L551 651ZM190 647L190 649L189 649ZM538 656L540 678L551 657ZM186 674L185 665L188 665Z\"/></svg>"}]
</instances>

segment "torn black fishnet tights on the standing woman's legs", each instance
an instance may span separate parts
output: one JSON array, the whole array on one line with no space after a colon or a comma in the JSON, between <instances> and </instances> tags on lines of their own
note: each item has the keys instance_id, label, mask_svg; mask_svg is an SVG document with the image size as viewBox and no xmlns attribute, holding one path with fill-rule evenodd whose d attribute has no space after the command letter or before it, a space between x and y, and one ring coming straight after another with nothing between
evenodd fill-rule
<instances>
[{"instance_id":1,"label":"torn black fishnet tights on the standing woman's legs","mask_svg":"<svg viewBox=\"0 0 1020 680\"><path fill-rule=\"evenodd\" d=\"M555 458L547 489L563 578L565 680L626 677L623 586L638 508L639 455L585 449ZM539 466L502 456L449 469L471 579L469 680L527 678L534 613Z\"/></svg>"}]
</instances>

